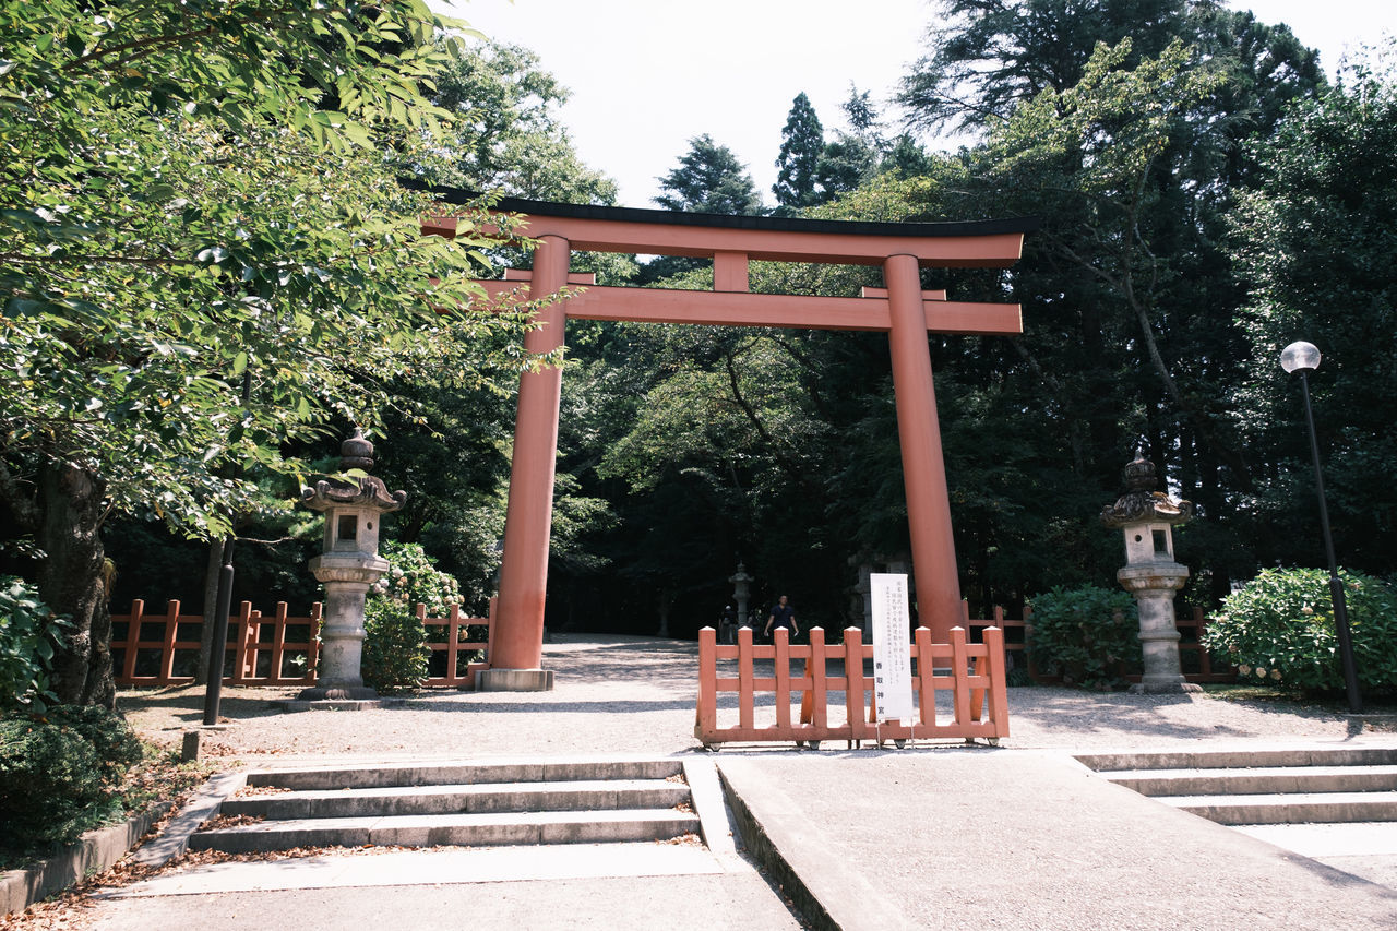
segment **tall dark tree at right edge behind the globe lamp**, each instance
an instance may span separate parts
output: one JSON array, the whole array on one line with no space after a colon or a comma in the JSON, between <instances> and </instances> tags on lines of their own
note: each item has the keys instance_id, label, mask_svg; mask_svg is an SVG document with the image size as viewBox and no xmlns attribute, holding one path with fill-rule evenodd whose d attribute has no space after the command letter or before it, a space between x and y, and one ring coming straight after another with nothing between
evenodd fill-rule
<instances>
[{"instance_id":1,"label":"tall dark tree at right edge behind the globe lamp","mask_svg":"<svg viewBox=\"0 0 1397 931\"><path fill-rule=\"evenodd\" d=\"M1260 178L1231 239L1249 295L1236 424L1266 452L1245 517L1267 563L1322 559L1301 398L1278 363L1282 347L1308 340L1324 356L1310 387L1340 561L1375 573L1397 565L1394 66L1389 45L1323 98L1295 105L1249 152Z\"/></svg>"}]
</instances>

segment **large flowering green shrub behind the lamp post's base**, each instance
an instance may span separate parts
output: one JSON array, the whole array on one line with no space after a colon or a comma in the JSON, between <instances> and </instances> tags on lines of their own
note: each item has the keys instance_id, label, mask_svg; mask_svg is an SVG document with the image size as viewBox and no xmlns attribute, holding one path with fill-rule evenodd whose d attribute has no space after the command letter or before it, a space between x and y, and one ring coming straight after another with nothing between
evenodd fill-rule
<instances>
[{"instance_id":1,"label":"large flowering green shrub behind the lamp post's base","mask_svg":"<svg viewBox=\"0 0 1397 931\"><path fill-rule=\"evenodd\" d=\"M1340 570L1359 686L1397 689L1397 590L1386 582ZM1204 643L1225 654L1241 681L1292 691L1338 691L1338 661L1329 572L1263 569L1222 601L1208 621Z\"/></svg>"}]
</instances>

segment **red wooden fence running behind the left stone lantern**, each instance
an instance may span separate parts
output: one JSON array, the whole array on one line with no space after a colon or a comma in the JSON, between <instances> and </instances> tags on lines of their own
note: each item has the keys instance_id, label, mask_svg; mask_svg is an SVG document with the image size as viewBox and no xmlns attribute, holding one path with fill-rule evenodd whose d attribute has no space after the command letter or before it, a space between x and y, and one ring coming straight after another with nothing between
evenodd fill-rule
<instances>
[{"instance_id":1,"label":"red wooden fence running behind the left stone lantern","mask_svg":"<svg viewBox=\"0 0 1397 931\"><path fill-rule=\"evenodd\" d=\"M461 615L451 605L444 618L426 616L426 605L416 607L418 619L427 629L427 688L475 686L475 674L488 663L474 660L478 651L489 654L493 635L495 600L489 618ZM131 602L131 612L112 615L112 663L117 685L187 685L194 681L198 663L198 639L204 618L180 614L180 602L170 601L163 615L147 615L145 602ZM263 616L244 601L228 618L228 647L224 682L229 685L314 685L320 651L321 605L310 605L310 615L293 618L286 602L277 602L272 616ZM486 628L485 639L469 639L469 628Z\"/></svg>"}]
</instances>

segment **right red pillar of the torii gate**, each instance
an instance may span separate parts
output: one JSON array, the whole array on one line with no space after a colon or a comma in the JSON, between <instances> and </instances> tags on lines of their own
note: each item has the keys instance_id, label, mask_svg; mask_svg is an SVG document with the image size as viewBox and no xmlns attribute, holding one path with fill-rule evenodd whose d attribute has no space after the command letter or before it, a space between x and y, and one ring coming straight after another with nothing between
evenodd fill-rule
<instances>
[{"instance_id":1,"label":"right red pillar of the torii gate","mask_svg":"<svg viewBox=\"0 0 1397 931\"><path fill-rule=\"evenodd\" d=\"M891 329L893 391L897 435L902 447L902 486L912 538L912 575L922 626L937 643L960 622L960 579L951 505L942 460L942 428L936 419L936 386L922 309L922 277L915 256L888 256L883 263Z\"/></svg>"}]
</instances>

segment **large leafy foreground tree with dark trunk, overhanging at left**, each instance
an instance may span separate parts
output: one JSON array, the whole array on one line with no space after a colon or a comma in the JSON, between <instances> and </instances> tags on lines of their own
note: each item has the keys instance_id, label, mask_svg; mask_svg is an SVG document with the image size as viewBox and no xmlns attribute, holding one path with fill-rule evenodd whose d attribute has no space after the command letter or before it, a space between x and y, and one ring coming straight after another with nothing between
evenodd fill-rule
<instances>
[{"instance_id":1,"label":"large leafy foreground tree with dark trunk, overhanging at left","mask_svg":"<svg viewBox=\"0 0 1397 931\"><path fill-rule=\"evenodd\" d=\"M423 240L394 183L447 117L418 82L455 46L419 0L8 13L0 507L74 625L54 691L110 705L110 514L221 537L257 499L229 466L303 471L289 442L373 426L408 368L515 368L474 349L518 323L469 305L486 240Z\"/></svg>"}]
</instances>

